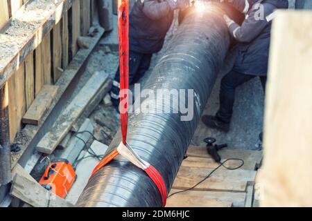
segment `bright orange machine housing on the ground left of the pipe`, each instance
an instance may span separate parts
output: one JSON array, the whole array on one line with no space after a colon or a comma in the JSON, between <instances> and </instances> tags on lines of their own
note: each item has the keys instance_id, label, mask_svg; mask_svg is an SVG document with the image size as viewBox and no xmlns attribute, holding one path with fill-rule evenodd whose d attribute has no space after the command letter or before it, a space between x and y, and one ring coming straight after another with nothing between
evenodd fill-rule
<instances>
[{"instance_id":1,"label":"bright orange machine housing on the ground left of the pipe","mask_svg":"<svg viewBox=\"0 0 312 221\"><path fill-rule=\"evenodd\" d=\"M39 183L60 198L65 198L76 181L76 172L68 160L54 160L49 164Z\"/></svg>"}]
</instances>

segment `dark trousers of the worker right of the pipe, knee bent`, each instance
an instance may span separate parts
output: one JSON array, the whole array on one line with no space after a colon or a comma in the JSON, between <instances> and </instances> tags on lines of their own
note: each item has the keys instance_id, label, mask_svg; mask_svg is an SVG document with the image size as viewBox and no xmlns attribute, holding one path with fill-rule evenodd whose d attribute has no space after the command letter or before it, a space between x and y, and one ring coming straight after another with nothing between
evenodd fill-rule
<instances>
[{"instance_id":1,"label":"dark trousers of the worker right of the pipe, knee bent","mask_svg":"<svg viewBox=\"0 0 312 221\"><path fill-rule=\"evenodd\" d=\"M238 73L232 70L221 80L220 88L220 108L216 113L216 117L224 122L231 122L234 99L235 99L235 89L246 81L250 81L256 75L245 75L243 73ZM259 76L261 79L261 84L263 91L266 91L266 76Z\"/></svg>"}]
</instances>

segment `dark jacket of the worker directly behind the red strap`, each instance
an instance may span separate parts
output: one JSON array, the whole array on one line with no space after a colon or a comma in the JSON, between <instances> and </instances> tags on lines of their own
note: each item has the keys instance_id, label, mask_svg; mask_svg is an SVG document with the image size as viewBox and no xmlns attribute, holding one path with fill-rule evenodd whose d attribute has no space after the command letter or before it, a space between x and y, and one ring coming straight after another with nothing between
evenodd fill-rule
<instances>
[{"instance_id":1,"label":"dark jacket of the worker directly behind the red strap","mask_svg":"<svg viewBox=\"0 0 312 221\"><path fill-rule=\"evenodd\" d=\"M164 45L164 38L173 21L173 10L166 0L137 0L129 20L130 50L152 54Z\"/></svg>"}]
</instances>

